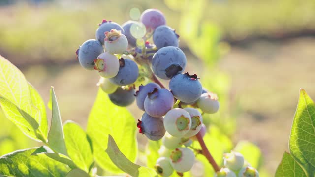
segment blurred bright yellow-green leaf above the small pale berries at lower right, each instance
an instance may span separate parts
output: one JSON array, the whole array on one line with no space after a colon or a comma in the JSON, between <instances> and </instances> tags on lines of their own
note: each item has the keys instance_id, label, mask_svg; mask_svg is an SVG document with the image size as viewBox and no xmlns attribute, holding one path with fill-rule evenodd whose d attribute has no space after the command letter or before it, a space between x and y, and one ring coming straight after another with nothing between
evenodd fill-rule
<instances>
[{"instance_id":1,"label":"blurred bright yellow-green leaf above the small pale berries at lower right","mask_svg":"<svg viewBox=\"0 0 315 177\"><path fill-rule=\"evenodd\" d=\"M243 154L245 160L249 162L252 167L259 169L262 164L262 154L259 147L249 141L240 141L233 150Z\"/></svg>"}]
</instances>

